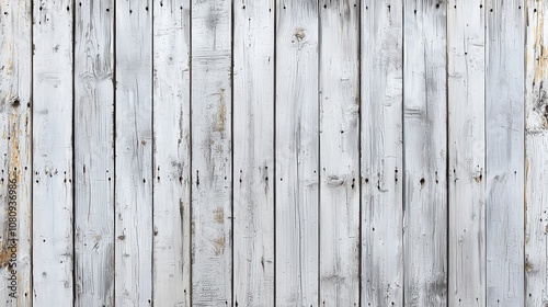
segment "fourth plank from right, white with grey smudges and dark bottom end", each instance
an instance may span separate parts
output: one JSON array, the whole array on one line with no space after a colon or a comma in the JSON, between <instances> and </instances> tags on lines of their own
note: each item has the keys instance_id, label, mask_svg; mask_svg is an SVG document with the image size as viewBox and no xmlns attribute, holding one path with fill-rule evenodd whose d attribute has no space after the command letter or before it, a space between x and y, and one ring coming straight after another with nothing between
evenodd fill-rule
<instances>
[{"instance_id":1,"label":"fourth plank from right, white with grey smudges and dark bottom end","mask_svg":"<svg viewBox=\"0 0 548 307\"><path fill-rule=\"evenodd\" d=\"M446 5L406 0L404 298L447 304Z\"/></svg>"}]
</instances>

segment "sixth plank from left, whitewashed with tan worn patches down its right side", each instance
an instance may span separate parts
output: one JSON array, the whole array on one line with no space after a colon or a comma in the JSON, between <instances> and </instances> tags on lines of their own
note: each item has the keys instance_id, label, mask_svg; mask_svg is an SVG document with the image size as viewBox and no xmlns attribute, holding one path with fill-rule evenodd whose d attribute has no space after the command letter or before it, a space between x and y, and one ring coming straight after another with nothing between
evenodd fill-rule
<instances>
[{"instance_id":1,"label":"sixth plank from left, whitewashed with tan worn patches down its right side","mask_svg":"<svg viewBox=\"0 0 548 307\"><path fill-rule=\"evenodd\" d=\"M232 305L231 4L192 1L192 306Z\"/></svg>"}]
</instances>

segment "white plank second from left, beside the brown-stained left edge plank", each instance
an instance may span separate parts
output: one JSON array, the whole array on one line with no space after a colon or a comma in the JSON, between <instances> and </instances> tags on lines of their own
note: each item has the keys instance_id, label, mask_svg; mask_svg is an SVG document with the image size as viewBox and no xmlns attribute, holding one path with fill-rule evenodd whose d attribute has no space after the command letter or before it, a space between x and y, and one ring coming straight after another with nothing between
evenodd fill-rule
<instances>
[{"instance_id":1,"label":"white plank second from left, beside the brown-stained left edge plank","mask_svg":"<svg viewBox=\"0 0 548 307\"><path fill-rule=\"evenodd\" d=\"M72 305L72 1L33 8L33 304Z\"/></svg>"}]
</instances>

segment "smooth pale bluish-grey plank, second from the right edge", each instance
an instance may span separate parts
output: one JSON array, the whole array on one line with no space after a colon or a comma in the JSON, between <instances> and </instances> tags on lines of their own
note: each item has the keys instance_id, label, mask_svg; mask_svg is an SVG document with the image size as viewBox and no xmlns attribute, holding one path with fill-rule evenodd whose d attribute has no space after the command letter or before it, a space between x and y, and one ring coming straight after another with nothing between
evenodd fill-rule
<instances>
[{"instance_id":1,"label":"smooth pale bluish-grey plank, second from the right edge","mask_svg":"<svg viewBox=\"0 0 548 307\"><path fill-rule=\"evenodd\" d=\"M487 305L524 297L524 72L522 0L488 0L486 52Z\"/></svg>"}]
</instances>

